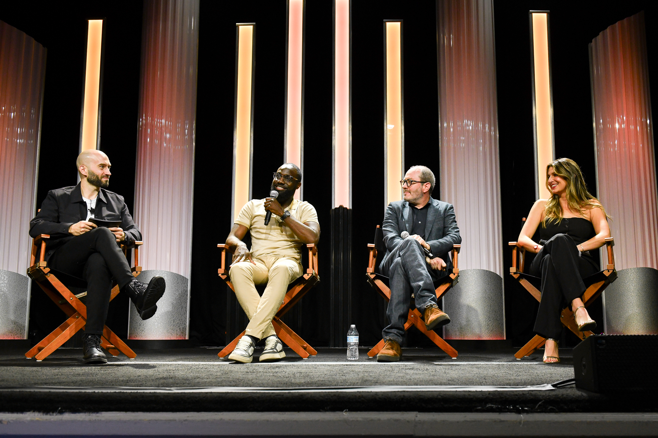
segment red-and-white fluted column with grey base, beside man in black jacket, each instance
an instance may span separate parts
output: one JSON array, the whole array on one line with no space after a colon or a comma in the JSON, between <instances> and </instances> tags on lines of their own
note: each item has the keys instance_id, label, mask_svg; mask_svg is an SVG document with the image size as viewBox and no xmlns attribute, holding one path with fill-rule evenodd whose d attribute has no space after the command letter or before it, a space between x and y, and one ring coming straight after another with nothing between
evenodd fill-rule
<instances>
[{"instance_id":1,"label":"red-and-white fluted column with grey base, beside man in black jacket","mask_svg":"<svg viewBox=\"0 0 658 438\"><path fill-rule=\"evenodd\" d=\"M144 3L135 220L140 280L166 279L158 311L130 305L130 339L188 338L199 0Z\"/></svg>"}]
</instances>

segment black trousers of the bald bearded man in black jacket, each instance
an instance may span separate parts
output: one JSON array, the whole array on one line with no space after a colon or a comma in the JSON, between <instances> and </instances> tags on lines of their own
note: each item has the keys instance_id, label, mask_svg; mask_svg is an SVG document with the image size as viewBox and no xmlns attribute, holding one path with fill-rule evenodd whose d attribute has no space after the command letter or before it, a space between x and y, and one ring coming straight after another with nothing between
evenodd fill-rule
<instances>
[{"instance_id":1,"label":"black trousers of the bald bearded man in black jacket","mask_svg":"<svg viewBox=\"0 0 658 438\"><path fill-rule=\"evenodd\" d=\"M86 334L103 334L107 308L112 292L112 279L120 288L134 280L130 265L114 233L98 227L63 244L51 255L48 265L57 271L82 278L87 282Z\"/></svg>"}]
</instances>

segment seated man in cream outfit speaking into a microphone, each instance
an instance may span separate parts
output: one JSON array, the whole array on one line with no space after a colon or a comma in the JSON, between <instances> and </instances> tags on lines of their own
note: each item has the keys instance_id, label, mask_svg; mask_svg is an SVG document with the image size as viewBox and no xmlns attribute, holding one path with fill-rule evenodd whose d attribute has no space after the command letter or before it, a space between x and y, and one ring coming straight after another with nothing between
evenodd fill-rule
<instances>
[{"instance_id":1,"label":"seated man in cream outfit speaking into a microphone","mask_svg":"<svg viewBox=\"0 0 658 438\"><path fill-rule=\"evenodd\" d=\"M226 238L233 253L231 282L249 318L245 336L228 356L233 361L251 362L254 347L261 339L265 339L265 349L259 361L286 357L272 318L286 296L288 284L304 272L301 246L317 244L320 239L315 208L293 199L300 186L301 169L297 165L287 163L279 167L274 172L270 198L247 202ZM242 242L247 231L251 233L251 249ZM265 283L261 297L255 285Z\"/></svg>"}]
</instances>

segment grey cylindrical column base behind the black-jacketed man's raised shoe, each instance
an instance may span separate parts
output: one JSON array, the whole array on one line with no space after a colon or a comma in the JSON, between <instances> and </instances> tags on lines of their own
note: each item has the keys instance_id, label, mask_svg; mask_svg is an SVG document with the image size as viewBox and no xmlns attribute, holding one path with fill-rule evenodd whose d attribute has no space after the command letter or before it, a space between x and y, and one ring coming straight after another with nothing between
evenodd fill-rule
<instances>
[{"instance_id":1,"label":"grey cylindrical column base behind the black-jacketed man's raised shoe","mask_svg":"<svg viewBox=\"0 0 658 438\"><path fill-rule=\"evenodd\" d=\"M158 310L153 317L143 321L131 302L128 339L187 339L190 321L188 309L190 282L180 274L157 269L141 271L137 279L148 283L156 275L164 277L166 282L164 295L158 301Z\"/></svg>"}]
</instances>

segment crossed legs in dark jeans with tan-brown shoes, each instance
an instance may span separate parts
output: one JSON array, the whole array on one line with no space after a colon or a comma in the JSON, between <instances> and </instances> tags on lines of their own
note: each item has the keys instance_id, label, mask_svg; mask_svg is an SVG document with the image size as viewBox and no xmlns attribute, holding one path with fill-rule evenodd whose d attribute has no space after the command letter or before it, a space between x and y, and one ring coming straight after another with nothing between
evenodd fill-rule
<instances>
[{"instance_id":1,"label":"crossed legs in dark jeans with tan-brown shoes","mask_svg":"<svg viewBox=\"0 0 658 438\"><path fill-rule=\"evenodd\" d=\"M412 292L416 308L425 318L427 330L444 326L450 322L450 317L439 309L436 302L434 281L441 277L438 274L440 271L429 268L425 253L417 240L404 239L388 255L380 266L380 271L389 278L391 299L386 309L390 323L382 330L382 338L386 343L377 355L377 361L397 362L401 356L400 344L405 336Z\"/></svg>"}]
</instances>

